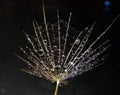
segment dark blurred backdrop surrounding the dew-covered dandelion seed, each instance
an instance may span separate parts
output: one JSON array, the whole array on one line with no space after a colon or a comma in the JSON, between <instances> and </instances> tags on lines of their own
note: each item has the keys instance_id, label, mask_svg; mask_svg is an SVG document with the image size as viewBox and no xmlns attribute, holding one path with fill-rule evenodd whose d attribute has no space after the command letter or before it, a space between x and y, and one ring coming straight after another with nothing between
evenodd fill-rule
<instances>
[{"instance_id":1,"label":"dark blurred backdrop surrounding the dew-covered dandelion seed","mask_svg":"<svg viewBox=\"0 0 120 95\"><path fill-rule=\"evenodd\" d=\"M102 33L120 14L119 0L45 0L49 22L55 22L56 10L66 20L73 12L71 24L77 30L96 21L95 32ZM23 30L32 31L32 21L43 21L41 0L0 0L0 95L53 95L55 85L45 79L20 71L24 62L14 52L25 43ZM120 95L120 18L107 33L111 40L108 61L60 87L58 95Z\"/></svg>"}]
</instances>

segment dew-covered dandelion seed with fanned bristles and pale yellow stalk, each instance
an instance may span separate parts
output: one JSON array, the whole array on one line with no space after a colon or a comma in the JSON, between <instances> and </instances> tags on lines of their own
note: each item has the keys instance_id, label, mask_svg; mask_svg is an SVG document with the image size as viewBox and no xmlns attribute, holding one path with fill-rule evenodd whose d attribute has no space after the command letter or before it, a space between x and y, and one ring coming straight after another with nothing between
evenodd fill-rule
<instances>
[{"instance_id":1,"label":"dew-covered dandelion seed with fanned bristles and pale yellow stalk","mask_svg":"<svg viewBox=\"0 0 120 95\"><path fill-rule=\"evenodd\" d=\"M23 71L56 82L54 95L57 95L59 85L65 84L67 79L81 75L104 62L104 52L110 47L110 42L106 40L100 45L96 43L119 17L87 45L95 23L79 32L71 27L71 16L72 13L68 21L63 21L57 10L57 23L49 24L43 4L43 25L39 25L37 21L32 22L34 35L25 33L28 45L20 47L25 57L17 55L28 65L28 69Z\"/></svg>"}]
</instances>

